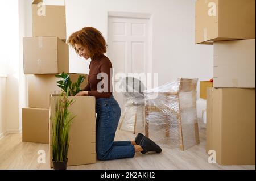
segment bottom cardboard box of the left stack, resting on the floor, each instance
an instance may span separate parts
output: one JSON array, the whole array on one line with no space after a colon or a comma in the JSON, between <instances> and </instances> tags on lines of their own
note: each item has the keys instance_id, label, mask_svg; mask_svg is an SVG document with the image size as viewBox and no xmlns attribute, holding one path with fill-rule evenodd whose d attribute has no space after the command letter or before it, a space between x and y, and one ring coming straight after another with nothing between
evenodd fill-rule
<instances>
[{"instance_id":1,"label":"bottom cardboard box of the left stack, resting on the floor","mask_svg":"<svg viewBox=\"0 0 256 181\"><path fill-rule=\"evenodd\" d=\"M22 141L49 144L49 109L22 109Z\"/></svg>"}]
</instances>

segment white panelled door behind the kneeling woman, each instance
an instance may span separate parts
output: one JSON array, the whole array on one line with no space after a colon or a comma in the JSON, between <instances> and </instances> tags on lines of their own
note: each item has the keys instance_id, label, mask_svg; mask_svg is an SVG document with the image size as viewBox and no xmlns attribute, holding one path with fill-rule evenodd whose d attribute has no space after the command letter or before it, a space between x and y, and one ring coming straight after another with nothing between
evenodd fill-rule
<instances>
[{"instance_id":1,"label":"white panelled door behind the kneeling woman","mask_svg":"<svg viewBox=\"0 0 256 181\"><path fill-rule=\"evenodd\" d=\"M146 73L149 55L149 19L120 18L108 19L108 57L115 73ZM114 79L115 84L119 81ZM123 108L122 93L114 97Z\"/></svg>"}]
</instances>

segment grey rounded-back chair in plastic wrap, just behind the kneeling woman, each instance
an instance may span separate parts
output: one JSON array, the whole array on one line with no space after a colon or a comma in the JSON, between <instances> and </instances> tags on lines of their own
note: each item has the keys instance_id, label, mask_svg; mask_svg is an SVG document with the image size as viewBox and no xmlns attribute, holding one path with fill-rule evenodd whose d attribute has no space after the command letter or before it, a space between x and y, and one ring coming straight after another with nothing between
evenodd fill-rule
<instances>
[{"instance_id":1,"label":"grey rounded-back chair in plastic wrap, just behind the kneeling woman","mask_svg":"<svg viewBox=\"0 0 256 181\"><path fill-rule=\"evenodd\" d=\"M123 121L126 120L127 127L133 130L135 134L136 124L137 124L137 114L139 108L142 108L142 115L143 120L142 124L144 127L144 93L143 91L146 90L146 87L143 83L134 77L125 77L122 79L122 92L123 98L125 103L124 111L122 112L121 116L121 123L119 125L119 129L121 129L123 125ZM129 116L130 115L130 116ZM129 118L134 117L134 119ZM128 129L129 129L128 128Z\"/></svg>"}]
</instances>

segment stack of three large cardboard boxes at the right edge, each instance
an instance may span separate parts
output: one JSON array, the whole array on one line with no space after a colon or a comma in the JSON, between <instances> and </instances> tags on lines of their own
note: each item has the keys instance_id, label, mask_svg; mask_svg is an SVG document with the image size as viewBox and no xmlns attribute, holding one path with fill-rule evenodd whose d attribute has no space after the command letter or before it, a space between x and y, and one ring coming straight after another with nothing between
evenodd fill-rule
<instances>
[{"instance_id":1,"label":"stack of three large cardboard boxes at the right edge","mask_svg":"<svg viewBox=\"0 0 256 181\"><path fill-rule=\"evenodd\" d=\"M255 165L255 0L197 0L196 44L214 48L207 153L220 165Z\"/></svg>"}]
</instances>

